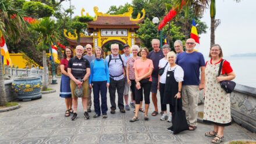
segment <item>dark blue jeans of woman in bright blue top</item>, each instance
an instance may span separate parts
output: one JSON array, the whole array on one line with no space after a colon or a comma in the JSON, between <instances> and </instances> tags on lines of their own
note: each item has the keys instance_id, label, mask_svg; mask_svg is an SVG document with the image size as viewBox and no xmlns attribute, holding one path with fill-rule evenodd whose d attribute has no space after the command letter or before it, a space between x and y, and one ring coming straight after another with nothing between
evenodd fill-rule
<instances>
[{"instance_id":1,"label":"dark blue jeans of woman in bright blue top","mask_svg":"<svg viewBox=\"0 0 256 144\"><path fill-rule=\"evenodd\" d=\"M108 106L106 105L106 81L93 81L93 95L94 95L94 110L99 116L106 115ZM101 92L101 106L99 106L99 92Z\"/></svg>"}]
</instances>

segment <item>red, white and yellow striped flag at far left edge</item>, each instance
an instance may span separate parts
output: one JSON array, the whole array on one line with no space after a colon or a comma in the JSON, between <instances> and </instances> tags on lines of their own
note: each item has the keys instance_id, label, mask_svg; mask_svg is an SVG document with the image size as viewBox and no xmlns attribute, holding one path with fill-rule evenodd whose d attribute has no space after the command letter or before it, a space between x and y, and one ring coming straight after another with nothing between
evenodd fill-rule
<instances>
[{"instance_id":1,"label":"red, white and yellow striped flag at far left edge","mask_svg":"<svg viewBox=\"0 0 256 144\"><path fill-rule=\"evenodd\" d=\"M1 55L3 56L3 64L12 66L12 60L10 60L10 55L7 49L7 45L5 43L5 39L3 38L2 33L0 33L0 47L1 47Z\"/></svg>"}]
</instances>

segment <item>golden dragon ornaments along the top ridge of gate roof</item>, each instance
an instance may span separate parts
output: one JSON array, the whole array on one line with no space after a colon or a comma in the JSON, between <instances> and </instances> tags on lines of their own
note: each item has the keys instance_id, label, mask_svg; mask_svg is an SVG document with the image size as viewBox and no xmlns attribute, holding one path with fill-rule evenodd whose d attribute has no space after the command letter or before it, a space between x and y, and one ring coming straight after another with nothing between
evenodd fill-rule
<instances>
[{"instance_id":1,"label":"golden dragon ornaments along the top ridge of gate roof","mask_svg":"<svg viewBox=\"0 0 256 144\"><path fill-rule=\"evenodd\" d=\"M123 14L119 14L119 15L110 15L108 13L98 12L98 7L97 6L94 6L93 9L94 9L94 13L95 13L94 21L97 20L98 16L123 16L123 17L130 17L131 21L139 21L141 19L144 19L144 17L145 17L145 10L142 9L141 12L143 13L143 16L141 16L140 13L138 13L136 19L133 19L132 15L131 15L133 13L133 7L131 7L131 6L128 8L128 12L123 13Z\"/></svg>"}]
</instances>

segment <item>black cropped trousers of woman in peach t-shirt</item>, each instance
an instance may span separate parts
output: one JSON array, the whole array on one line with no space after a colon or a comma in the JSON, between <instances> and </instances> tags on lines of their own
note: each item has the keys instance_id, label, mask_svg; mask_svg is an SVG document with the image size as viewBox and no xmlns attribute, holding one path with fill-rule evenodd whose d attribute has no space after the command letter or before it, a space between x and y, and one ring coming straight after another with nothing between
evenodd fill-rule
<instances>
[{"instance_id":1,"label":"black cropped trousers of woman in peach t-shirt","mask_svg":"<svg viewBox=\"0 0 256 144\"><path fill-rule=\"evenodd\" d=\"M150 104L150 89L152 82L149 81L149 78L145 78L140 81L140 89L135 88L135 103L138 105L143 101L143 93L145 104Z\"/></svg>"}]
</instances>

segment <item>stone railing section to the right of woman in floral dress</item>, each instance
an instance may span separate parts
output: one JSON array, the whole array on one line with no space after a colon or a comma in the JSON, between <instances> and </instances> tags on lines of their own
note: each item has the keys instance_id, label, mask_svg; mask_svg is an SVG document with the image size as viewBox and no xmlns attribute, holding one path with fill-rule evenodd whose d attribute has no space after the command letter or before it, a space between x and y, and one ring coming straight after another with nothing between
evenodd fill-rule
<instances>
[{"instance_id":1,"label":"stone railing section to the right of woman in floral dress","mask_svg":"<svg viewBox=\"0 0 256 144\"><path fill-rule=\"evenodd\" d=\"M230 95L233 120L256 132L256 88L237 84Z\"/></svg>"}]
</instances>

